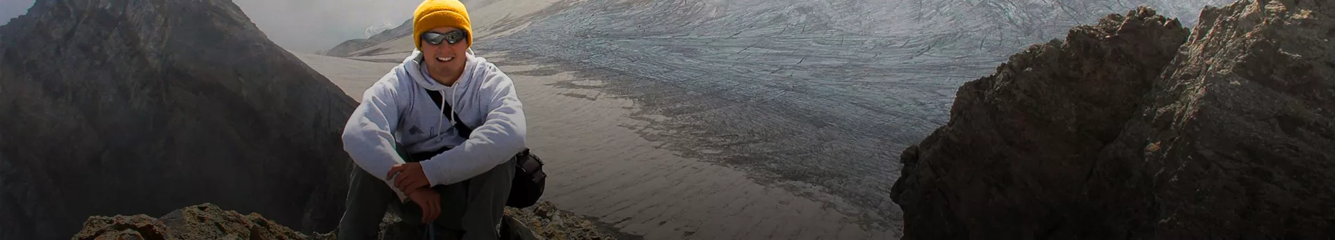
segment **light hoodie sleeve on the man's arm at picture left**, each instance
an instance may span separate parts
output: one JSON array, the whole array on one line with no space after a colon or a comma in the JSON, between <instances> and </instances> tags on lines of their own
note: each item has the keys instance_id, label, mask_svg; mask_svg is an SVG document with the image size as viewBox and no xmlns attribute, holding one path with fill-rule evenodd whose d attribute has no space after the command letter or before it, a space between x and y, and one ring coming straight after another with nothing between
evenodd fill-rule
<instances>
[{"instance_id":1,"label":"light hoodie sleeve on the man's arm at picture left","mask_svg":"<svg viewBox=\"0 0 1335 240\"><path fill-rule=\"evenodd\" d=\"M394 149L392 131L398 124L399 107L394 72L376 81L362 93L362 104L352 111L343 127L343 151L358 167L380 179L399 196L407 200L402 191L394 187L392 179L384 176L394 164L403 159Z\"/></svg>"}]
</instances>

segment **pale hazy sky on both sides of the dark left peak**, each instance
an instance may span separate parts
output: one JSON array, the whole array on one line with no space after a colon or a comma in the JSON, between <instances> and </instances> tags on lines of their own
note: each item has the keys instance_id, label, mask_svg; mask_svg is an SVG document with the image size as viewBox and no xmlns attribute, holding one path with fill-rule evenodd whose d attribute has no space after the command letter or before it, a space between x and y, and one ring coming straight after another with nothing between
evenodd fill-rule
<instances>
[{"instance_id":1,"label":"pale hazy sky on both sides of the dark left peak","mask_svg":"<svg viewBox=\"0 0 1335 240\"><path fill-rule=\"evenodd\" d=\"M35 0L0 0L0 21L27 13ZM283 48L300 52L330 49L366 29L398 27L421 0L232 0L246 16Z\"/></svg>"}]
</instances>

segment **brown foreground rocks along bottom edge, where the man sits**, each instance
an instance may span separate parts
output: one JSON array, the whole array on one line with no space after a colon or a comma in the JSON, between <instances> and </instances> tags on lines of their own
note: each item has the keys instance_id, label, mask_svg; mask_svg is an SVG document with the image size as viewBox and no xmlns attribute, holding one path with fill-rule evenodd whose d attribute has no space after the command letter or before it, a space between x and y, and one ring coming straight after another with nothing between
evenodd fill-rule
<instances>
[{"instance_id":1,"label":"brown foreground rocks along bottom edge, where the man sits","mask_svg":"<svg viewBox=\"0 0 1335 240\"><path fill-rule=\"evenodd\" d=\"M506 208L502 239L506 240L610 240L591 223L542 201L537 207ZM538 229L534 233L531 229ZM334 240L336 232L306 235L264 219L259 213L240 215L214 204L191 205L159 219L146 215L92 216L75 240ZM379 239L423 239L421 228L384 215Z\"/></svg>"}]
</instances>

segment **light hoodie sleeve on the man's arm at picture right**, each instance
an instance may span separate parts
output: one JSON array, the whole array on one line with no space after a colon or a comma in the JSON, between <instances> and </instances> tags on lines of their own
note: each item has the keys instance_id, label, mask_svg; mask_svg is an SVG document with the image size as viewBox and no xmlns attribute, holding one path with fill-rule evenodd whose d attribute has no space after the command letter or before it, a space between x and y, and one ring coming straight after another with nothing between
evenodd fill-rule
<instances>
[{"instance_id":1,"label":"light hoodie sleeve on the man's arm at picture right","mask_svg":"<svg viewBox=\"0 0 1335 240\"><path fill-rule=\"evenodd\" d=\"M514 92L514 83L495 65L487 64L489 73L479 93L490 101L482 125L473 129L469 140L430 160L422 161L422 169L431 185L459 183L510 160L523 151L527 123L523 117L523 104Z\"/></svg>"}]
</instances>

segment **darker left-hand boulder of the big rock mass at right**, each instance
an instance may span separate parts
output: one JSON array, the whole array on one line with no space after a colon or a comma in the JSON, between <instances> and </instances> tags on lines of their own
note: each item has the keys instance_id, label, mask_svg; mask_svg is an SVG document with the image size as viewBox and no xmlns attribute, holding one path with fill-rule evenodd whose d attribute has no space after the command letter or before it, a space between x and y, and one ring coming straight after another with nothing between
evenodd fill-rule
<instances>
[{"instance_id":1,"label":"darker left-hand boulder of the big rock mass at right","mask_svg":"<svg viewBox=\"0 0 1335 240\"><path fill-rule=\"evenodd\" d=\"M1109 211L1079 195L1095 163L1085 159L1116 139L1185 37L1176 20L1140 8L1076 27L965 83L951 121L901 156L892 195L905 211L905 237L1029 239L1052 224L1103 224L1080 220Z\"/></svg>"}]
</instances>

